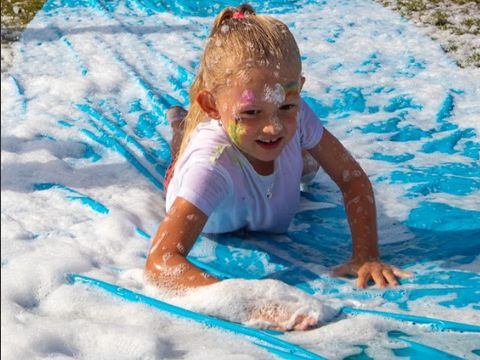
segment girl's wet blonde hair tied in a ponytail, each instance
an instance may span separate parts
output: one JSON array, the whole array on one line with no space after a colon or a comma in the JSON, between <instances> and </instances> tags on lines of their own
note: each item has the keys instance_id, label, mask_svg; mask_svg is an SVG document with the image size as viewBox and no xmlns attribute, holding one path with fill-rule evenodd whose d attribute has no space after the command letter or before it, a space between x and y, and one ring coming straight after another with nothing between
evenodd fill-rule
<instances>
[{"instance_id":1,"label":"girl's wet blonde hair tied in a ponytail","mask_svg":"<svg viewBox=\"0 0 480 360\"><path fill-rule=\"evenodd\" d=\"M256 15L248 4L225 8L217 15L207 39L197 76L190 88L190 109L178 157L186 149L190 136L207 115L196 98L202 89L215 91L228 85L233 74L228 66L244 70L288 64L289 70L301 73L298 45L287 25L270 16ZM236 66L239 68L239 66Z\"/></svg>"}]
</instances>

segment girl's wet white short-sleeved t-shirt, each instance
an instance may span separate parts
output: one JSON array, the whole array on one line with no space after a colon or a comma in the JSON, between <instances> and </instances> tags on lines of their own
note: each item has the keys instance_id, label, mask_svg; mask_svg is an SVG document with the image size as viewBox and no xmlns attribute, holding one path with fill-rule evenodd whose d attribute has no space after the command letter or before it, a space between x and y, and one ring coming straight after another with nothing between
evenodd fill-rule
<instances>
[{"instance_id":1,"label":"girl's wet white short-sleeved t-shirt","mask_svg":"<svg viewBox=\"0 0 480 360\"><path fill-rule=\"evenodd\" d=\"M300 202L302 149L320 141L323 126L302 100L297 130L275 159L275 170L259 175L216 120L201 123L175 166L167 211L180 196L208 216L205 233L240 229L285 232Z\"/></svg>"}]
</instances>

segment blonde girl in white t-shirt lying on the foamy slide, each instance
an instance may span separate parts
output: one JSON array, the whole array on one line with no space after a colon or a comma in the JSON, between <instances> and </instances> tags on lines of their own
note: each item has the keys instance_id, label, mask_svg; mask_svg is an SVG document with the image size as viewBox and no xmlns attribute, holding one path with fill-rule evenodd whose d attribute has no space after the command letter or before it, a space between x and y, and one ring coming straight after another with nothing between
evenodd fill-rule
<instances>
[{"instance_id":1,"label":"blonde girl in white t-shirt lying on the foamy slide","mask_svg":"<svg viewBox=\"0 0 480 360\"><path fill-rule=\"evenodd\" d=\"M285 232L302 175L318 165L341 189L352 233L352 258L335 274L358 276L361 288L370 279L394 286L396 277L409 275L380 262L370 181L301 99L304 81L285 24L249 5L217 16L188 113L173 108L167 115L176 160L166 176L167 215L152 241L148 279L173 289L218 282L186 259L199 234Z\"/></svg>"}]
</instances>

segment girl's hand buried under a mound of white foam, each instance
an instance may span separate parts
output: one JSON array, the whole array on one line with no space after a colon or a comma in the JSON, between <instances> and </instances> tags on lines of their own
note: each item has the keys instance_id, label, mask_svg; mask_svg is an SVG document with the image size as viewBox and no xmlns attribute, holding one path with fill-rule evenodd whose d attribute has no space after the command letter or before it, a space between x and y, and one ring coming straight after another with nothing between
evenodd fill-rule
<instances>
[{"instance_id":1,"label":"girl's hand buried under a mound of white foam","mask_svg":"<svg viewBox=\"0 0 480 360\"><path fill-rule=\"evenodd\" d=\"M336 301L318 299L274 279L227 279L191 289L173 304L260 329L308 330L335 318Z\"/></svg>"}]
</instances>

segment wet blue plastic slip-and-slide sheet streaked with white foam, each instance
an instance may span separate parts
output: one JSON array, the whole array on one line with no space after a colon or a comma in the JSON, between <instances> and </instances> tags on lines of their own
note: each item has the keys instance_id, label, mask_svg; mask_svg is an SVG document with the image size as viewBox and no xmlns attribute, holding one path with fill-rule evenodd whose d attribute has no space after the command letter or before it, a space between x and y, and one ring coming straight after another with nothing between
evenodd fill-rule
<instances>
[{"instance_id":1,"label":"wet blue plastic slip-and-slide sheet streaked with white foam","mask_svg":"<svg viewBox=\"0 0 480 360\"><path fill-rule=\"evenodd\" d=\"M161 194L170 161L165 111L188 106L212 17L229 4L237 3L48 1L25 31L18 59L51 57L37 75L67 79L65 92L55 95L63 107L52 110L50 127L39 125L39 139L82 144L77 160L83 163L109 165L114 154ZM391 358L478 358L480 342L472 334L480 322L480 106L474 100L480 76L464 75L428 38L368 1L253 5L291 27L307 76L304 98L359 159L376 189L383 260L416 276L385 290L357 290L351 279L329 276L328 269L348 259L350 241L339 193L323 174L302 188L301 209L287 234L202 235L190 260L220 278L273 278L314 296L355 301L337 322L352 316L396 319L378 330L386 333L382 346ZM35 97L20 70L13 68L9 77L15 116L30 121ZM71 180L39 178L32 191L62 194L85 211L114 216L108 199L100 201ZM134 236L146 252L145 239L156 224L142 224ZM279 333L189 312L88 275L69 274L68 280L246 335L281 358L332 356L321 346L310 351ZM376 356L371 343L343 341L350 346L345 359Z\"/></svg>"}]
</instances>

